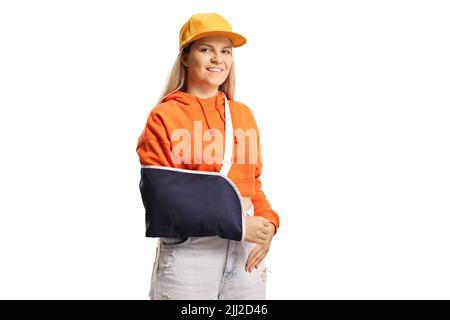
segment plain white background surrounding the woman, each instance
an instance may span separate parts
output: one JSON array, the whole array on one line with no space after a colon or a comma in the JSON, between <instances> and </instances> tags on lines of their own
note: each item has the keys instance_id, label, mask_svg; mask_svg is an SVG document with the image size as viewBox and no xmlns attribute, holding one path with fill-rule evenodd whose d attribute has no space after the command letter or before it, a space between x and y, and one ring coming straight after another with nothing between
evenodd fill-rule
<instances>
[{"instance_id":1,"label":"plain white background surrounding the woman","mask_svg":"<svg viewBox=\"0 0 450 320\"><path fill-rule=\"evenodd\" d=\"M281 218L268 299L450 298L446 1L2 1L0 298L148 299L137 138L194 13Z\"/></svg>"}]
</instances>

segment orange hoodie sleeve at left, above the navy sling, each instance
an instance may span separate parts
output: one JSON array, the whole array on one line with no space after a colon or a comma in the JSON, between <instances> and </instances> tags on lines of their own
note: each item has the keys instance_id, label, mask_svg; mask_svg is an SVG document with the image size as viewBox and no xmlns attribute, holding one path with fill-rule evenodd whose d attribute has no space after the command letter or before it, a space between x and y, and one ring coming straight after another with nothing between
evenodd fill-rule
<instances>
[{"instance_id":1,"label":"orange hoodie sleeve at left, above the navy sling","mask_svg":"<svg viewBox=\"0 0 450 320\"><path fill-rule=\"evenodd\" d=\"M176 167L167 130L155 109L150 112L145 128L139 136L136 152L141 165Z\"/></svg>"}]
</instances>

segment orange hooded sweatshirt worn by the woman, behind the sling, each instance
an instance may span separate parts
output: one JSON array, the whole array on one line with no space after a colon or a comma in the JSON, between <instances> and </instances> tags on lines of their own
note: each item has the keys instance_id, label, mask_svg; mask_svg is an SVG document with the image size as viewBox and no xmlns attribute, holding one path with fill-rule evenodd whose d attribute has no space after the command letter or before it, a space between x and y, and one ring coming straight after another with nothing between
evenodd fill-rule
<instances>
[{"instance_id":1,"label":"orange hooded sweatshirt worn by the woman, behind the sling","mask_svg":"<svg viewBox=\"0 0 450 320\"><path fill-rule=\"evenodd\" d=\"M272 209L261 189L262 155L256 120L250 108L243 103L234 100L228 100L228 103L234 129L233 160L228 177L237 186L242 196L251 197L254 215L269 219L274 224L275 233L277 233L280 225L279 216ZM197 125L194 124L194 121L197 122ZM199 126L200 124L201 126ZM200 127L201 129L199 129ZM203 154L208 153L211 145L215 145L214 142L217 142L214 136L211 137L205 133L208 129L217 129L222 137L225 137L225 93L219 90L216 96L201 99L183 91L174 91L150 111L136 147L140 163L142 165L219 172L220 161L218 163L203 161ZM241 130L236 131L237 129ZM255 132L256 135L252 139L250 135L238 134L239 131L241 133ZM187 149L181 148L181 158L174 158L174 149L179 150L180 146L178 141L180 132L191 138L190 154ZM174 139L173 137L178 138ZM208 140L208 137L211 140L204 141ZM200 141L201 150L197 150L200 152L195 150L199 146L198 143L197 147L194 145L193 140L195 139L197 142ZM222 150L217 148L217 156L220 160L224 152L224 143L225 141L222 141ZM184 144L183 146L188 145ZM209 152L209 154L216 155L215 152ZM243 161L244 154L245 161ZM178 161L180 159L182 161Z\"/></svg>"}]
</instances>

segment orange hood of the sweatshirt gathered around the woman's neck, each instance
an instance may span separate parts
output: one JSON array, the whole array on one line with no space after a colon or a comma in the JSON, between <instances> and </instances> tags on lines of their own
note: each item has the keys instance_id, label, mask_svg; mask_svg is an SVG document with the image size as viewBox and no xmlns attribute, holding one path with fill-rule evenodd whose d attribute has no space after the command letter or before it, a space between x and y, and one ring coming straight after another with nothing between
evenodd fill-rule
<instances>
[{"instance_id":1,"label":"orange hood of the sweatshirt gathered around the woman's neck","mask_svg":"<svg viewBox=\"0 0 450 320\"><path fill-rule=\"evenodd\" d=\"M225 123L225 93L218 90L217 94L210 98L199 98L184 91L174 91L164 97L162 102L175 101L182 108L201 110L208 128L211 129L205 110L216 110Z\"/></svg>"}]
</instances>

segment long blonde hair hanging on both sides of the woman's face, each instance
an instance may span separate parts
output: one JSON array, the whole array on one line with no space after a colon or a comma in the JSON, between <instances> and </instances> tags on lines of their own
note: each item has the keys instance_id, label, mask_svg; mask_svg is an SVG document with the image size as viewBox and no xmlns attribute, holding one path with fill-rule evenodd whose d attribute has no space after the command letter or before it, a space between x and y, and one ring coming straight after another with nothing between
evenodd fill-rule
<instances>
[{"instance_id":1,"label":"long blonde hair hanging on both sides of the woman's face","mask_svg":"<svg viewBox=\"0 0 450 320\"><path fill-rule=\"evenodd\" d=\"M183 50L180 50L178 53L178 56L175 60L175 63L172 67L172 71L170 72L170 75L168 77L168 81L166 83L166 87L163 90L159 100L157 101L157 104L160 104L163 102L164 98L171 94L174 91L183 91L186 92L187 90L187 70L186 67L183 66L181 63L183 54L189 54L191 50L191 46L194 43L190 42L186 47L183 48ZM235 83L236 83L236 77L235 77L235 62L233 59L233 62L231 64L230 73L228 74L227 79L219 86L219 90L223 91L227 98L229 100L234 99L234 90L235 90Z\"/></svg>"}]
</instances>

